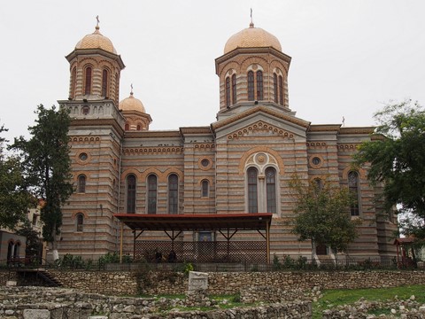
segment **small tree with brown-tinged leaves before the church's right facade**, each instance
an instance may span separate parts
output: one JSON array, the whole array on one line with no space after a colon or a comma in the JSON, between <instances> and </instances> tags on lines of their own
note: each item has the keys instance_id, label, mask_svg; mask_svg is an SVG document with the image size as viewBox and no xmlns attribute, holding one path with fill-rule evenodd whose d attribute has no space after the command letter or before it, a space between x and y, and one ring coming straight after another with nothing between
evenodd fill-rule
<instances>
[{"instance_id":1,"label":"small tree with brown-tinged leaves before the church's right facade","mask_svg":"<svg viewBox=\"0 0 425 319\"><path fill-rule=\"evenodd\" d=\"M292 231L298 240L311 240L313 260L320 264L316 245L327 245L332 254L345 252L357 237L356 225L361 222L350 217L355 200L350 191L317 180L306 184L298 176L292 178L290 188L296 198L297 214Z\"/></svg>"}]
</instances>

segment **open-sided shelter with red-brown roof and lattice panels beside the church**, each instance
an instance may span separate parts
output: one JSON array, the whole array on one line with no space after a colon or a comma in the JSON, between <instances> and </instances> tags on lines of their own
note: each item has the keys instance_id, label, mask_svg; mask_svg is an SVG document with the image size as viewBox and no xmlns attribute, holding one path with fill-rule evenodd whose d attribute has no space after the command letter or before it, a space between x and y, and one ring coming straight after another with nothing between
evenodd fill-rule
<instances>
[{"instance_id":1,"label":"open-sided shelter with red-brown roof and lattice panels beside the church","mask_svg":"<svg viewBox=\"0 0 425 319\"><path fill-rule=\"evenodd\" d=\"M270 263L272 215L255 214L114 214L120 220L120 261L123 256L124 225L133 231L133 258L146 261ZM232 240L239 231L257 233L259 240ZM167 241L140 240L145 231L161 231ZM183 231L215 232L207 240L176 240ZM252 237L252 234L250 235ZM159 255L160 253L160 255ZM164 253L166 255L164 256ZM174 254L174 256L173 256ZM171 256L170 256L171 255Z\"/></svg>"}]
</instances>

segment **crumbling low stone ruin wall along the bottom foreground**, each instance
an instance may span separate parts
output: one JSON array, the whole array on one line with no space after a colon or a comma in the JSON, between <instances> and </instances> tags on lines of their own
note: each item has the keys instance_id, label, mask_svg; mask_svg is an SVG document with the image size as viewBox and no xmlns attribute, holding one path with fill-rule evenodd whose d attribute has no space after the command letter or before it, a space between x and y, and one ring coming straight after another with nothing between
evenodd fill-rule
<instances>
[{"instance_id":1,"label":"crumbling low stone ruin wall along the bottom foreground","mask_svg":"<svg viewBox=\"0 0 425 319\"><path fill-rule=\"evenodd\" d=\"M216 307L210 311L184 311L184 307L188 306L185 300L108 297L61 288L1 287L0 301L0 318L2 319L302 319L312 317L312 306L308 300L262 304L256 307L233 309Z\"/></svg>"}]
</instances>

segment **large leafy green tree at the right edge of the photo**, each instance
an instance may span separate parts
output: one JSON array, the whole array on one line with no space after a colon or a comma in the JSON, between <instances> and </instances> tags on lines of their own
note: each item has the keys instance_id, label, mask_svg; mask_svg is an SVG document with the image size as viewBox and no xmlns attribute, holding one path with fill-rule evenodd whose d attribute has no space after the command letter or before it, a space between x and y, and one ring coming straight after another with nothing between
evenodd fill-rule
<instances>
[{"instance_id":1,"label":"large leafy green tree at the right edge of the photo","mask_svg":"<svg viewBox=\"0 0 425 319\"><path fill-rule=\"evenodd\" d=\"M387 211L398 207L416 222L405 222L409 232L425 237L425 111L417 102L386 105L375 113L379 123L372 141L356 155L358 165L370 165L368 179L383 184ZM419 222L418 222L419 221Z\"/></svg>"}]
</instances>

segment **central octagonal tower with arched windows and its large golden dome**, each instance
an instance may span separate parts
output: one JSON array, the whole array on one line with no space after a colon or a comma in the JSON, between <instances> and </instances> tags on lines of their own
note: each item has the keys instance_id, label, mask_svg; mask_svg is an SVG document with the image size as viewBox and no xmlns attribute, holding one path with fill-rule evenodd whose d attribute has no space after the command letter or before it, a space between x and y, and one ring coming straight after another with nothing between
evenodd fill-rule
<instances>
[{"instance_id":1,"label":"central octagonal tower with arched windows and its large golden dome","mask_svg":"<svg viewBox=\"0 0 425 319\"><path fill-rule=\"evenodd\" d=\"M215 59L220 78L220 115L245 110L250 105L273 105L290 112L288 72L290 56L281 43L260 27L244 28L232 35L224 54Z\"/></svg>"}]
</instances>

